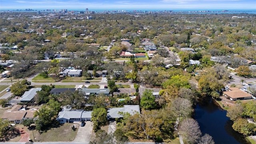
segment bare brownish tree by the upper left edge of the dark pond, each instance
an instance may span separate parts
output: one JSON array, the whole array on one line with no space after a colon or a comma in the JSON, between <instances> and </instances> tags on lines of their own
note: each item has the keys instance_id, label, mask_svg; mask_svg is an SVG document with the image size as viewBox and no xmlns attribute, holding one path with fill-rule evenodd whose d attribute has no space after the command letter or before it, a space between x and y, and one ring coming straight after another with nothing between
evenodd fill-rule
<instances>
[{"instance_id":1,"label":"bare brownish tree by the upper left edge of the dark pond","mask_svg":"<svg viewBox=\"0 0 256 144\"><path fill-rule=\"evenodd\" d=\"M172 108L179 117L186 118L192 112L192 103L186 98L175 98L172 101Z\"/></svg>"}]
</instances>

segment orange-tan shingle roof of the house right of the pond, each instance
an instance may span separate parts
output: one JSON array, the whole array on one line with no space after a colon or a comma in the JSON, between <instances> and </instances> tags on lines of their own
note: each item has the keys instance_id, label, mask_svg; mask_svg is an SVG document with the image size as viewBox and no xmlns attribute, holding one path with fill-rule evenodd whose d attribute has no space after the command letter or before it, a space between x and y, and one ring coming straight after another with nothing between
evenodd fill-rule
<instances>
[{"instance_id":1,"label":"orange-tan shingle roof of the house right of the pond","mask_svg":"<svg viewBox=\"0 0 256 144\"><path fill-rule=\"evenodd\" d=\"M229 88L230 91L223 92L230 98L244 98L244 97L250 97L252 95L248 94L247 92L244 92L240 90L239 88Z\"/></svg>"}]
</instances>

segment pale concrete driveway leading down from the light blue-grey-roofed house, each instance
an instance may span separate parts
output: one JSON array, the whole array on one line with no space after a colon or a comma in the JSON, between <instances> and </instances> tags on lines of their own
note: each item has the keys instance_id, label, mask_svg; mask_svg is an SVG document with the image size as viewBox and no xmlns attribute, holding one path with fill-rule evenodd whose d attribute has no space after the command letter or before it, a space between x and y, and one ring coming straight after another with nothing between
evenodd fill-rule
<instances>
[{"instance_id":1,"label":"pale concrete driveway leading down from the light blue-grey-roofed house","mask_svg":"<svg viewBox=\"0 0 256 144\"><path fill-rule=\"evenodd\" d=\"M79 126L76 138L73 140L73 142L90 142L93 123L90 121L87 121L85 123L85 126ZM81 124L81 122L79 124Z\"/></svg>"}]
</instances>

